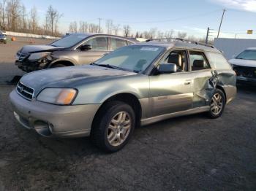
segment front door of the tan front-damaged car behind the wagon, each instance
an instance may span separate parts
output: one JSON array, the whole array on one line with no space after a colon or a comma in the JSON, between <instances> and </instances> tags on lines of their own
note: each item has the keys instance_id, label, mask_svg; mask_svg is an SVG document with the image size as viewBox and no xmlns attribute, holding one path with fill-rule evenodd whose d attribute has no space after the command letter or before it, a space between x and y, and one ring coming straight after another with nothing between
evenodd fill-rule
<instances>
[{"instance_id":1,"label":"front door of the tan front-damaged car behind the wagon","mask_svg":"<svg viewBox=\"0 0 256 191\"><path fill-rule=\"evenodd\" d=\"M108 54L108 37L97 36L86 40L83 44L90 44L91 50L80 50L77 48L77 61L79 64L93 63L103 55ZM81 44L81 45L83 45Z\"/></svg>"}]
</instances>

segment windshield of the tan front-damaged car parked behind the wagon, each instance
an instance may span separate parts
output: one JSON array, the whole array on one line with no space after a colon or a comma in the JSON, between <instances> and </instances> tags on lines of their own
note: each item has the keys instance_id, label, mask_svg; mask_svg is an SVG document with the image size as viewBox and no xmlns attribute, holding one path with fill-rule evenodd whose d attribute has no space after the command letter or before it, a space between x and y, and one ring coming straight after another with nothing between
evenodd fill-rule
<instances>
[{"instance_id":1,"label":"windshield of the tan front-damaged car parked behind the wagon","mask_svg":"<svg viewBox=\"0 0 256 191\"><path fill-rule=\"evenodd\" d=\"M68 36L64 36L62 39L59 39L56 42L53 42L50 45L52 45L53 47L72 47L78 42L81 42L87 36L88 35L86 34L70 34Z\"/></svg>"}]
</instances>

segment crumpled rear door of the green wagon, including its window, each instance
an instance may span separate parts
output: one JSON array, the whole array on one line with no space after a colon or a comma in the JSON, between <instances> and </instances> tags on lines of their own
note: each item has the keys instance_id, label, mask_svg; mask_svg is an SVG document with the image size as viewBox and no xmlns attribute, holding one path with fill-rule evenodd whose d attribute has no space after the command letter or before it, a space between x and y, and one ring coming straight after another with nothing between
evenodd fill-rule
<instances>
[{"instance_id":1,"label":"crumpled rear door of the green wagon, including its window","mask_svg":"<svg viewBox=\"0 0 256 191\"><path fill-rule=\"evenodd\" d=\"M214 90L214 70L203 50L189 50L190 74L192 74L193 108L208 105Z\"/></svg>"}]
</instances>

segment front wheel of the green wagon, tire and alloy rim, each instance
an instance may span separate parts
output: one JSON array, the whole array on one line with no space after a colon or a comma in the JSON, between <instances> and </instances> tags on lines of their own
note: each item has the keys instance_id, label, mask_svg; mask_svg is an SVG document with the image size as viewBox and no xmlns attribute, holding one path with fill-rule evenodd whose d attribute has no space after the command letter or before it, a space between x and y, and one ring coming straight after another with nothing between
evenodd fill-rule
<instances>
[{"instance_id":1,"label":"front wheel of the green wagon, tire and alloy rim","mask_svg":"<svg viewBox=\"0 0 256 191\"><path fill-rule=\"evenodd\" d=\"M123 122L118 121L120 115ZM111 101L95 117L91 141L105 152L116 152L127 144L134 129L135 112L132 107L121 101Z\"/></svg>"}]
</instances>

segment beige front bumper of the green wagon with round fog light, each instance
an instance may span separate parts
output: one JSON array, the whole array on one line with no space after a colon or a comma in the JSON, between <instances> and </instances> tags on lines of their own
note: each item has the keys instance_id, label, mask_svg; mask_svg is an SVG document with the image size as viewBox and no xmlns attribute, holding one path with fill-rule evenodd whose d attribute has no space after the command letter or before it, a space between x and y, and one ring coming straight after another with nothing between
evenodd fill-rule
<instances>
[{"instance_id":1,"label":"beige front bumper of the green wagon with round fog light","mask_svg":"<svg viewBox=\"0 0 256 191\"><path fill-rule=\"evenodd\" d=\"M15 90L10 102L16 120L25 128L47 137L89 136L99 104L58 106L40 101L27 101Z\"/></svg>"}]
</instances>

